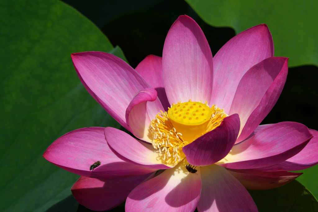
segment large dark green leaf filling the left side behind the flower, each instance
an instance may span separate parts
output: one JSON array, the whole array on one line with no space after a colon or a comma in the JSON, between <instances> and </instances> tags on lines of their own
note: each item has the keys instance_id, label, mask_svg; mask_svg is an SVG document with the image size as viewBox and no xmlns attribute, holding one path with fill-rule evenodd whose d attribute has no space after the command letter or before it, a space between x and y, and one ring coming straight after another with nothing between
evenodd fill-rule
<instances>
[{"instance_id":1,"label":"large dark green leaf filling the left side behind the flower","mask_svg":"<svg viewBox=\"0 0 318 212\"><path fill-rule=\"evenodd\" d=\"M77 128L118 127L81 85L70 54L113 46L59 1L1 1L0 9L0 211L45 211L79 177L45 161L45 149Z\"/></svg>"}]
</instances>

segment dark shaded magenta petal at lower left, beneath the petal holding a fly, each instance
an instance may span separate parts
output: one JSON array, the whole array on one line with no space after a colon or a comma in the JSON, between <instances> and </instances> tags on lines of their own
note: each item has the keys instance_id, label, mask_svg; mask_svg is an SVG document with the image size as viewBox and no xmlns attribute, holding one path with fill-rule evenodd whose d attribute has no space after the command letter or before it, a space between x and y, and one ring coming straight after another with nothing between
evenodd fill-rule
<instances>
[{"instance_id":1,"label":"dark shaded magenta petal at lower left, beneath the petal holding a fly","mask_svg":"<svg viewBox=\"0 0 318 212\"><path fill-rule=\"evenodd\" d=\"M95 211L115 208L124 202L136 186L151 174L134 177L96 179L81 176L71 191L79 204Z\"/></svg>"}]
</instances>

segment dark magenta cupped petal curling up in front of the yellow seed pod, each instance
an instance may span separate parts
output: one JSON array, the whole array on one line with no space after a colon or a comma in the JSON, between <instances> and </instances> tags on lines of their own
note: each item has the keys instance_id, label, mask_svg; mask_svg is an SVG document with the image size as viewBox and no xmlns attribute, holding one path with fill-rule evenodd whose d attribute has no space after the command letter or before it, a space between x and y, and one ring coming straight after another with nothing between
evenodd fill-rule
<instances>
[{"instance_id":1,"label":"dark magenta cupped petal curling up in front of the yellow seed pod","mask_svg":"<svg viewBox=\"0 0 318 212\"><path fill-rule=\"evenodd\" d=\"M194 166L207 166L224 158L232 149L239 134L239 115L226 117L220 126L182 148Z\"/></svg>"}]
</instances>

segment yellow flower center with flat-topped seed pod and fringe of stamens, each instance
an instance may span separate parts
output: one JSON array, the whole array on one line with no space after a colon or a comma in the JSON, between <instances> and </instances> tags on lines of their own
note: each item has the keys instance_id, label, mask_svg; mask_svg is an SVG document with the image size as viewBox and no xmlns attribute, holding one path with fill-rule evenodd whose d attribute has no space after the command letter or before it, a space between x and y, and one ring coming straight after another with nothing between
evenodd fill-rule
<instances>
[{"instance_id":1,"label":"yellow flower center with flat-topped seed pod and fringe of stamens","mask_svg":"<svg viewBox=\"0 0 318 212\"><path fill-rule=\"evenodd\" d=\"M158 149L164 164L176 165L185 155L182 147L218 127L228 115L207 102L178 102L168 112L158 113L149 126L152 146Z\"/></svg>"}]
</instances>

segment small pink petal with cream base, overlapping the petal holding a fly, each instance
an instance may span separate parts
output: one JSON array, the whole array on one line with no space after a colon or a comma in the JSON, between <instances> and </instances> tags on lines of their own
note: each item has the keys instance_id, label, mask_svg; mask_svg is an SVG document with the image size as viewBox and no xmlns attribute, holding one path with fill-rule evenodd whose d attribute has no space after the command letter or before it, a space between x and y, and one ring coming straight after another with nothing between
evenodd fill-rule
<instances>
[{"instance_id":1,"label":"small pink petal with cream base, overlapping the petal holding a fly","mask_svg":"<svg viewBox=\"0 0 318 212\"><path fill-rule=\"evenodd\" d=\"M105 136L111 150L124 161L150 169L171 168L161 163L162 161L159 160L158 153L150 150L138 140L119 129L106 127ZM155 150L153 147L151 148Z\"/></svg>"}]
</instances>

